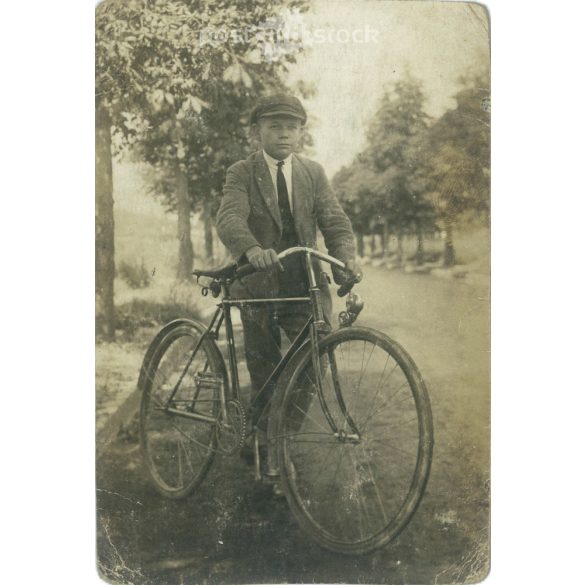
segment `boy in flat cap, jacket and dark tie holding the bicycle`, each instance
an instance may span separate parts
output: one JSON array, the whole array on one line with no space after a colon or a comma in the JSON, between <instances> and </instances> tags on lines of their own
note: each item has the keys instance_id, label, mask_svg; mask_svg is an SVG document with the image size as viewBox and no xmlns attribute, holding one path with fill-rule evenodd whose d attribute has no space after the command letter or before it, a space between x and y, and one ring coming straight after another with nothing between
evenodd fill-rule
<instances>
[{"instance_id":1,"label":"boy in flat cap, jacket and dark tie holding the bicycle","mask_svg":"<svg viewBox=\"0 0 585 585\"><path fill-rule=\"evenodd\" d=\"M324 236L328 253L345 262L354 277L361 278L351 223L323 168L295 154L306 120L305 110L295 97L279 94L260 99L250 122L262 150L227 171L217 232L238 262L248 261L257 270L241 284L234 284L234 296L305 295L308 289L302 258L297 255L281 263L278 253L292 246L315 248L317 229ZM325 318L331 322L327 277L319 267L316 276ZM339 284L344 281L341 272L334 272L334 278ZM242 307L252 396L281 358L280 328L294 339L309 311L301 303Z\"/></svg>"}]
</instances>

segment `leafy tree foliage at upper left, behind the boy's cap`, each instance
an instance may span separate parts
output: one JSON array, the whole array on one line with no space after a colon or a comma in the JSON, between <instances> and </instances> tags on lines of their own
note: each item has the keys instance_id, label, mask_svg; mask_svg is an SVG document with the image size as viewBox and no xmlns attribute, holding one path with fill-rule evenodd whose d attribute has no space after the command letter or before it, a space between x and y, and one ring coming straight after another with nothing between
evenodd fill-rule
<instances>
[{"instance_id":1,"label":"leafy tree foliage at upper left, behind the boy's cap","mask_svg":"<svg viewBox=\"0 0 585 585\"><path fill-rule=\"evenodd\" d=\"M189 214L213 212L226 167L245 154L251 105L284 88L295 52L277 50L279 15L306 6L106 0L97 8L96 107L108 110L115 149L132 145L155 169L153 192L179 214L183 255L192 256ZM183 275L189 264L180 260Z\"/></svg>"}]
</instances>

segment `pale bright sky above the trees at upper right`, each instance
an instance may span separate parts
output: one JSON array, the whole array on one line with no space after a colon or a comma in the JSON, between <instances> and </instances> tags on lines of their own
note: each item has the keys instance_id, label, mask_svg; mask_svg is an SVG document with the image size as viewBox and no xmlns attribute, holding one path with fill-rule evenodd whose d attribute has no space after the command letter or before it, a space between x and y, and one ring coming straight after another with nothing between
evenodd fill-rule
<instances>
[{"instance_id":1,"label":"pale bright sky above the trees at upper right","mask_svg":"<svg viewBox=\"0 0 585 585\"><path fill-rule=\"evenodd\" d=\"M409 71L438 117L455 105L457 78L489 59L488 17L477 4L315 0L292 20L307 42L289 81L316 86L304 102L315 121L312 158L330 177L360 151L385 85Z\"/></svg>"}]
</instances>

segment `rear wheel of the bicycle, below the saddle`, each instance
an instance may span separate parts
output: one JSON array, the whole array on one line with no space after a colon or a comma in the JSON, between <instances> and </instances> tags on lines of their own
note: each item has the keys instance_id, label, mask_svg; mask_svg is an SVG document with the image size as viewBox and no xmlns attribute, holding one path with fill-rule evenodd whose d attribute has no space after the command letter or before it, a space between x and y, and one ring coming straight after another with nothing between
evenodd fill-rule
<instances>
[{"instance_id":1,"label":"rear wheel of the bicycle, below the saddle","mask_svg":"<svg viewBox=\"0 0 585 585\"><path fill-rule=\"evenodd\" d=\"M185 498L203 481L217 446L225 365L203 325L178 321L163 331L141 373L140 436L144 463L156 489ZM181 416L202 415L207 420Z\"/></svg>"}]
</instances>

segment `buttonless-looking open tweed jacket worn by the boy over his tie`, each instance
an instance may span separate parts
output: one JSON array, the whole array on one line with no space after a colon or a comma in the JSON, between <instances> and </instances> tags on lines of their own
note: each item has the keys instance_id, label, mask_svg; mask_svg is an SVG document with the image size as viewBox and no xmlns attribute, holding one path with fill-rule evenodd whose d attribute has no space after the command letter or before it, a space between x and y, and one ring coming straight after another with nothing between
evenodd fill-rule
<instances>
[{"instance_id":1,"label":"buttonless-looking open tweed jacket worn by the boy over his tie","mask_svg":"<svg viewBox=\"0 0 585 585\"><path fill-rule=\"evenodd\" d=\"M342 262L355 258L351 222L335 197L323 167L293 154L292 192L299 245L316 248L319 229L331 256ZM262 151L228 169L216 225L220 239L238 262L244 260L243 255L252 246L277 247L282 221ZM272 296L276 277L273 273L256 273L247 277L247 285L254 296Z\"/></svg>"}]
</instances>

